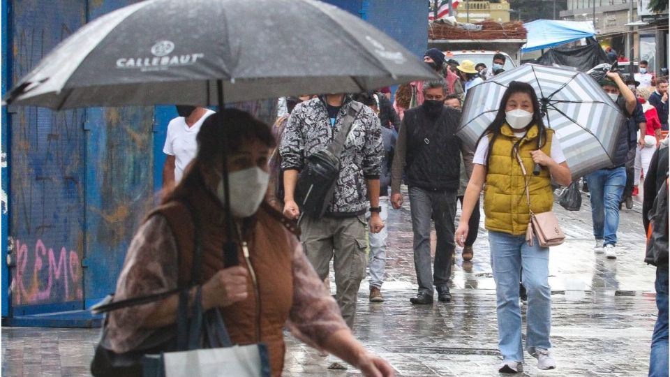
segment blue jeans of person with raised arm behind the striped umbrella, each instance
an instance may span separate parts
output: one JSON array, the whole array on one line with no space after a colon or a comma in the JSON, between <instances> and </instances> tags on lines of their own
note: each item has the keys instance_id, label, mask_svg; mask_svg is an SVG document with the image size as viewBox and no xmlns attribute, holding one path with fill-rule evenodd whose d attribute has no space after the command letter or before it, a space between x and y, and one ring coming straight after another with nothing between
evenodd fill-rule
<instances>
[{"instance_id":1,"label":"blue jeans of person with raised arm behind the striped umbrella","mask_svg":"<svg viewBox=\"0 0 670 377\"><path fill-rule=\"evenodd\" d=\"M600 169L586 176L591 195L591 219L595 239L616 245L619 205L626 186L626 168Z\"/></svg>"}]
</instances>

